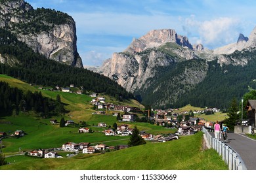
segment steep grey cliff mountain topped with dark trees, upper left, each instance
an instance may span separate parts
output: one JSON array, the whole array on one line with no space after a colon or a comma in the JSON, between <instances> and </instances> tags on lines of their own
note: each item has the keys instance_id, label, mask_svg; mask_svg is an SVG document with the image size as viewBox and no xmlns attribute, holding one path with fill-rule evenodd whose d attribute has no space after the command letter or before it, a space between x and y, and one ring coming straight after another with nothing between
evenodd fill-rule
<instances>
[{"instance_id":1,"label":"steep grey cliff mountain topped with dark trees, upper left","mask_svg":"<svg viewBox=\"0 0 256 183\"><path fill-rule=\"evenodd\" d=\"M77 52L75 21L64 12L33 9L24 0L1 0L0 27L48 59L83 67ZM10 61L1 56L0 59L2 63Z\"/></svg>"}]
</instances>

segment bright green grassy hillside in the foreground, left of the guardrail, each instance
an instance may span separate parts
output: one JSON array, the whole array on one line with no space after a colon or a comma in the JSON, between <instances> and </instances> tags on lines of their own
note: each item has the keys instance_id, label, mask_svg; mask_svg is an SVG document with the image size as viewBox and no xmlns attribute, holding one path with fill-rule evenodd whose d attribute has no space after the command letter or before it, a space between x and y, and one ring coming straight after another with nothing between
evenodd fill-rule
<instances>
[{"instance_id":1,"label":"bright green grassy hillside in the foreground, left of the guardrail","mask_svg":"<svg viewBox=\"0 0 256 183\"><path fill-rule=\"evenodd\" d=\"M7 158L9 165L0 169L64 169L64 170L224 170L224 161L214 150L202 150L202 132L179 141L145 144L106 154L74 158L35 159L16 156ZM181 153L182 152L182 153Z\"/></svg>"}]
</instances>

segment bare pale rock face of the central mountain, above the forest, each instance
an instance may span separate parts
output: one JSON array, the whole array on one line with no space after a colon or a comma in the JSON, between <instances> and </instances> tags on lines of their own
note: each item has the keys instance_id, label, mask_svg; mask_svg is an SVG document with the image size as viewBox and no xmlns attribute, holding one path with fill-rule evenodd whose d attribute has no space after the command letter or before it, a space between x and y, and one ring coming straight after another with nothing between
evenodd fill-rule
<instances>
[{"instance_id":1,"label":"bare pale rock face of the central mountain, above the forest","mask_svg":"<svg viewBox=\"0 0 256 183\"><path fill-rule=\"evenodd\" d=\"M195 50L196 51L195 51ZM116 80L129 92L147 88L150 78L157 77L159 67L198 58L203 45L193 46L187 37L177 35L173 29L152 30L131 44L121 53L114 53L104 61L100 73Z\"/></svg>"}]
</instances>

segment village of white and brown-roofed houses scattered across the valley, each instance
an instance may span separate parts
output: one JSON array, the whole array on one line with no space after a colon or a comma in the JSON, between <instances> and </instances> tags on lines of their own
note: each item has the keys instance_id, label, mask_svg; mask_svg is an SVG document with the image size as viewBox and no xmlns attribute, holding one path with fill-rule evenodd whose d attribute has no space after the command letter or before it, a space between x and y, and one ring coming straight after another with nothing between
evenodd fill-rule
<instances>
[{"instance_id":1,"label":"village of white and brown-roofed houses scattered across the valley","mask_svg":"<svg viewBox=\"0 0 256 183\"><path fill-rule=\"evenodd\" d=\"M74 87L70 85L70 87ZM39 88L43 90L43 88ZM57 88L59 89L59 88ZM62 92L70 92L68 88L62 88ZM79 93L78 94L82 94ZM106 122L98 122L96 127L104 128L103 131L97 131L103 133L105 136L127 136L133 134L133 128L131 124L137 122L141 118L146 118L147 122L151 125L158 125L167 129L175 129L175 133L169 134L156 134L147 133L147 131L140 131L139 135L148 142L167 142L177 140L181 135L193 135L202 130L202 127L213 127L214 122L207 122L203 118L195 117L197 114L205 112L219 112L217 108L206 108L204 110L195 111L182 111L178 112L177 109L167 110L142 110L142 108L114 105L112 103L106 103L104 96L99 96L96 93L90 95L92 97L91 105L94 106L95 112L93 115L112 115L117 118L116 126L107 124ZM51 125L59 125L56 119L51 119ZM78 122L79 123L79 122ZM74 120L66 120L65 127L77 126L77 133L94 133L89 126L79 126ZM0 132L0 137L5 137L7 133ZM17 129L11 136L23 137L26 132L22 129ZM70 152L68 156L75 156L75 154L94 154L94 153L106 153L114 150L121 150L123 148L129 148L127 144L119 144L117 146L108 146L104 143L91 144L91 142L64 142L61 147L54 147L51 149L36 149L25 152L28 156L39 158L63 158L59 155L59 152Z\"/></svg>"}]
</instances>

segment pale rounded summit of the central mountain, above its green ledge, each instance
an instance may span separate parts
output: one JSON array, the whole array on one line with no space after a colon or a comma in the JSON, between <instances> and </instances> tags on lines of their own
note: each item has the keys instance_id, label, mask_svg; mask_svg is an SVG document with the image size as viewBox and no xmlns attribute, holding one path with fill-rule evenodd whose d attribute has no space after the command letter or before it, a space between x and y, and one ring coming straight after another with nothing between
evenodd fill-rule
<instances>
[{"instance_id":1,"label":"pale rounded summit of the central mountain, above its green ledge","mask_svg":"<svg viewBox=\"0 0 256 183\"><path fill-rule=\"evenodd\" d=\"M130 52L132 54L136 52L142 52L147 48L159 47L166 42L176 42L181 46L186 46L190 49L192 45L188 41L187 37L183 37L182 35L177 35L174 29L157 29L152 30L143 35L139 39L133 39L131 44L128 46L124 52Z\"/></svg>"}]
</instances>

